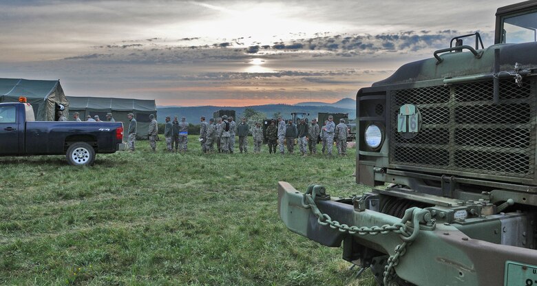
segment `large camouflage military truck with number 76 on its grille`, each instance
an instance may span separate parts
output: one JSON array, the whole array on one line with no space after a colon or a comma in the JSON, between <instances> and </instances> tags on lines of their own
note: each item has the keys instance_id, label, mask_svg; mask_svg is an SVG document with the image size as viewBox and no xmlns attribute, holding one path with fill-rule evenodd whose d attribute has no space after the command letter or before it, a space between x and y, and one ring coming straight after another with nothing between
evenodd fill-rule
<instances>
[{"instance_id":1,"label":"large camouflage military truck with number 76 on its grille","mask_svg":"<svg viewBox=\"0 0 537 286\"><path fill-rule=\"evenodd\" d=\"M537 285L536 28L537 1L499 8L494 45L459 36L360 89L356 181L372 190L280 181L286 226L343 243L379 285Z\"/></svg>"}]
</instances>

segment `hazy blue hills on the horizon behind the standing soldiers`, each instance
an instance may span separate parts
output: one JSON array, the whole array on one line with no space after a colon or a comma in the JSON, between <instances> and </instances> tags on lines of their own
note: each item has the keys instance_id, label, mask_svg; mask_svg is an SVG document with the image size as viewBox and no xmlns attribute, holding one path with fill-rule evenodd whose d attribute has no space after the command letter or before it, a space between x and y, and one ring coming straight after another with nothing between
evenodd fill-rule
<instances>
[{"instance_id":1,"label":"hazy blue hills on the horizon behind the standing soldiers","mask_svg":"<svg viewBox=\"0 0 537 286\"><path fill-rule=\"evenodd\" d=\"M209 120L209 118L213 117L214 111L220 109L235 110L235 112L237 113L237 117L239 117L240 115L242 115L242 113L244 113L244 109L246 108L251 108L255 111L265 113L267 118L274 118L275 113L280 113L284 118L291 118L291 112L310 113L310 118L317 117L317 113L319 112L348 113L349 118L356 118L355 106L351 109L332 106L295 106L290 104L266 104L250 107L215 107L210 105L203 107L157 107L157 115L158 122L161 123L165 122L165 118L168 115L171 118L173 118L173 115L178 115L179 118L185 116L185 118L187 118L187 122L193 124L200 122L201 116L205 116L205 118Z\"/></svg>"}]
</instances>

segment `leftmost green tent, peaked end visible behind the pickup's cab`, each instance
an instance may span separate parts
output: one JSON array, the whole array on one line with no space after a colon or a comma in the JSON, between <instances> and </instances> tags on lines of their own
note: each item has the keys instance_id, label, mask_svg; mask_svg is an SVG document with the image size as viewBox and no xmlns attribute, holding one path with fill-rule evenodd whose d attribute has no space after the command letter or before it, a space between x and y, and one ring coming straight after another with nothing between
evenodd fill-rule
<instances>
[{"instance_id":1,"label":"leftmost green tent, peaked end visible behind the pickup's cab","mask_svg":"<svg viewBox=\"0 0 537 286\"><path fill-rule=\"evenodd\" d=\"M59 104L69 108L60 80L0 78L0 102L18 102L21 96L34 107L36 120L56 120Z\"/></svg>"}]
</instances>

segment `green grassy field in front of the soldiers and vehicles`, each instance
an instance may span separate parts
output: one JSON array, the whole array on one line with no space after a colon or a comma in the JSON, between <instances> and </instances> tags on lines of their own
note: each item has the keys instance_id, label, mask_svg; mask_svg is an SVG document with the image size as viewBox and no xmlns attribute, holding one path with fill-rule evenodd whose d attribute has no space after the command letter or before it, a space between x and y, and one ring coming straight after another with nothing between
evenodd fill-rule
<instances>
[{"instance_id":1,"label":"green grassy field in front of the soldiers and vehicles","mask_svg":"<svg viewBox=\"0 0 537 286\"><path fill-rule=\"evenodd\" d=\"M365 190L348 157L98 154L0 157L0 285L374 285L330 249L287 230L277 181L331 195ZM251 146L250 142L250 147ZM238 147L238 146L237 146Z\"/></svg>"}]
</instances>

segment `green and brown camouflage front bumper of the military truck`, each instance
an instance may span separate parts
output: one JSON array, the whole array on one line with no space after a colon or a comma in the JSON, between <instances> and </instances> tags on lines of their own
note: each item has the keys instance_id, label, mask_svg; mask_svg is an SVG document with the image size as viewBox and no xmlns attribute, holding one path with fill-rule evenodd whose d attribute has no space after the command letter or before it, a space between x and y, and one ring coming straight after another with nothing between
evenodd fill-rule
<instances>
[{"instance_id":1,"label":"green and brown camouflage front bumper of the military truck","mask_svg":"<svg viewBox=\"0 0 537 286\"><path fill-rule=\"evenodd\" d=\"M389 255L401 244L398 234L352 235L317 223L302 204L303 192L284 181L278 183L278 214L287 228L330 247L350 242ZM319 210L333 220L358 227L392 225L400 219L342 203L341 199L316 201ZM344 248L347 245L344 245ZM471 239L450 224L420 229L417 239L401 256L395 272L416 285L528 285L537 281L537 250ZM520 273L525 272L524 274Z\"/></svg>"}]
</instances>

